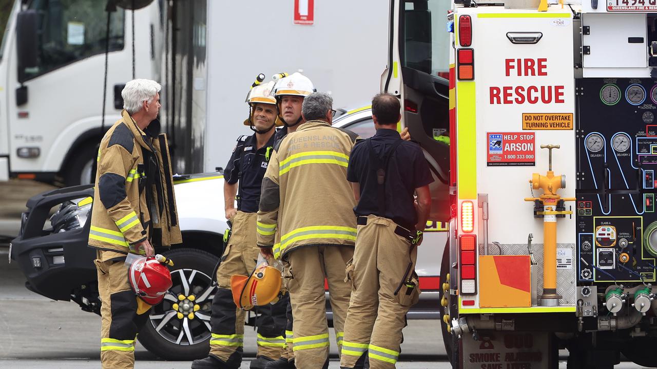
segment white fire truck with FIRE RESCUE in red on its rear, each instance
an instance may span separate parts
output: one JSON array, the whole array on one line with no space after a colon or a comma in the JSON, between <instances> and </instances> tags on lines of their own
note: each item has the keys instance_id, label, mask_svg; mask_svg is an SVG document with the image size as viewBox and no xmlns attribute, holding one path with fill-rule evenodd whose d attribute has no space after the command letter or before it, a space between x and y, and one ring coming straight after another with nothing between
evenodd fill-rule
<instances>
[{"instance_id":1,"label":"white fire truck with FIRE RESCUE in red on its rear","mask_svg":"<svg viewBox=\"0 0 657 369\"><path fill-rule=\"evenodd\" d=\"M382 89L449 168L454 368L657 366L657 3L564 2L391 1Z\"/></svg>"}]
</instances>

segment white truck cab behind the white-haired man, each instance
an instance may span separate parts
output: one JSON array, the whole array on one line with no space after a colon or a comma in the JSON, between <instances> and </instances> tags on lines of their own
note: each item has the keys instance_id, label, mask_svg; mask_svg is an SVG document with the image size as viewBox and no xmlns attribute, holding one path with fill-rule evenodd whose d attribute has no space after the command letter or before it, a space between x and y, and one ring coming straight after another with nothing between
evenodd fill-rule
<instances>
[{"instance_id":1,"label":"white truck cab behind the white-haired man","mask_svg":"<svg viewBox=\"0 0 657 369\"><path fill-rule=\"evenodd\" d=\"M133 69L156 79L158 2L134 16L121 7L107 12L106 5L14 2L0 44L0 180L89 183L102 112L105 129L120 118L121 90Z\"/></svg>"}]
</instances>

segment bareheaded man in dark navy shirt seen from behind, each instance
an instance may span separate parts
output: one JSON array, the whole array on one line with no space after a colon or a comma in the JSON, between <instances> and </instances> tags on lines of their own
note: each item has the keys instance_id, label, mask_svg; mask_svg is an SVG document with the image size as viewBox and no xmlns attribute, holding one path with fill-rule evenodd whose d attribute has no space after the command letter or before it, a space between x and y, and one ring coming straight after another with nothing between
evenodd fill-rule
<instances>
[{"instance_id":1,"label":"bareheaded man in dark navy shirt seen from behind","mask_svg":"<svg viewBox=\"0 0 657 369\"><path fill-rule=\"evenodd\" d=\"M399 100L384 93L372 101L376 135L351 152L347 179L358 205L353 283L342 342L341 368L395 368L406 313L417 302L414 267L429 215L433 182L422 149L396 131ZM417 194L417 202L414 195Z\"/></svg>"}]
</instances>

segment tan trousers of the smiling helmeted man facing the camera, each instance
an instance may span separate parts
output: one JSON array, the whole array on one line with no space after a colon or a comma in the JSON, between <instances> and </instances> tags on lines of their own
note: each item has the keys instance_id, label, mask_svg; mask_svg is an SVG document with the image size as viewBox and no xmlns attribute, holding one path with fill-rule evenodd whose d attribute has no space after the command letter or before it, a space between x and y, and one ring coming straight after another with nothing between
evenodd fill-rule
<instances>
[{"instance_id":1,"label":"tan trousers of the smiling helmeted man facing the camera","mask_svg":"<svg viewBox=\"0 0 657 369\"><path fill-rule=\"evenodd\" d=\"M256 269L260 248L256 245L256 213L237 211L231 222L233 229L231 239L221 256L217 269L217 292L212 300L212 337L210 353L228 361L231 355L242 356L244 347L244 318L242 311L233 302L231 276L250 275ZM277 306L280 305L280 306ZM285 303L257 307L261 313L258 318L257 356L266 356L276 360L281 357L285 338L281 327L274 324L272 315L285 314Z\"/></svg>"}]
</instances>

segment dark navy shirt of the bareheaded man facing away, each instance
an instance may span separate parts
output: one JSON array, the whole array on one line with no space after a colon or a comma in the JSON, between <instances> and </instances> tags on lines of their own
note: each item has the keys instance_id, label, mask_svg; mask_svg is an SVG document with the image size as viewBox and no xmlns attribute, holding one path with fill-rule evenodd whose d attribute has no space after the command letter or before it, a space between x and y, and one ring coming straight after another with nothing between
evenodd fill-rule
<instances>
[{"instance_id":1,"label":"dark navy shirt of the bareheaded man facing away","mask_svg":"<svg viewBox=\"0 0 657 369\"><path fill-rule=\"evenodd\" d=\"M394 129L378 129L372 137L372 148L378 158L384 158L392 149L393 142L401 140ZM381 159L383 160L383 159ZM370 162L367 141L358 142L351 150L347 179L359 183L361 199L353 212L357 215L376 215L391 219L397 225L415 230L417 213L413 205L415 188L426 186L434 181L429 165L424 159L419 144L404 141L390 156L386 169L385 204L386 211L380 214L376 169Z\"/></svg>"}]
</instances>

